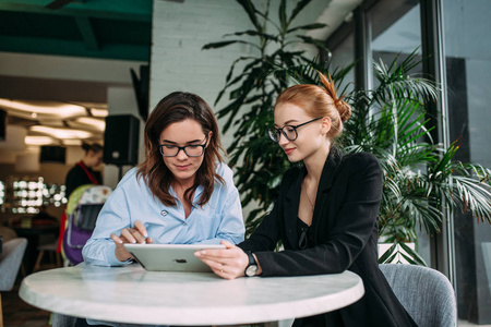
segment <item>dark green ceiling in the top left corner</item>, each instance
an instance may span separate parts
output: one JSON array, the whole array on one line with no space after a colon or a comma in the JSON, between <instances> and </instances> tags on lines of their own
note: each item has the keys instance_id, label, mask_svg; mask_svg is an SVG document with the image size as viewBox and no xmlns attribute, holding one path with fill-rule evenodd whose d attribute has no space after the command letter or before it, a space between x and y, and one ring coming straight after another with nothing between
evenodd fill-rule
<instances>
[{"instance_id":1,"label":"dark green ceiling in the top left corner","mask_svg":"<svg viewBox=\"0 0 491 327\"><path fill-rule=\"evenodd\" d=\"M0 51L149 61L152 0L0 0Z\"/></svg>"}]
</instances>

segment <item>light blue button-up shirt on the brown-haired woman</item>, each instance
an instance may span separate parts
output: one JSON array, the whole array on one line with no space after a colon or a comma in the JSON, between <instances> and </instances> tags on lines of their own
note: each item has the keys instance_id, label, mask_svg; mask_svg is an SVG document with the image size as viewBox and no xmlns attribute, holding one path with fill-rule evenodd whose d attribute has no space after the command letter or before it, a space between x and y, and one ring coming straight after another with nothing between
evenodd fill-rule
<instances>
[{"instance_id":1,"label":"light blue button-up shirt on the brown-haired woman","mask_svg":"<svg viewBox=\"0 0 491 327\"><path fill-rule=\"evenodd\" d=\"M219 244L229 241L237 244L243 241L244 226L239 192L233 184L232 171L225 164L216 169L225 184L215 182L208 203L197 204L185 218L184 209L177 199L177 207L164 205L154 197L142 178L136 179L136 168L130 170L109 196L97 218L92 238L82 254L85 263L98 266L121 266L116 258L116 244L111 233L120 235L123 228L133 227L136 220L145 226L148 237L155 244ZM203 187L194 194L196 203Z\"/></svg>"}]
</instances>

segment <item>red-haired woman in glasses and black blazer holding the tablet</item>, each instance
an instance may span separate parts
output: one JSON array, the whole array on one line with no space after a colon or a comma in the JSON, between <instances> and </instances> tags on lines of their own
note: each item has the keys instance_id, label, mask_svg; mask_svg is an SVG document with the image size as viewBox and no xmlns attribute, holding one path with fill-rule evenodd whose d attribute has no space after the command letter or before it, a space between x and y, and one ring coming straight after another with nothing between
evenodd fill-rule
<instances>
[{"instance_id":1,"label":"red-haired woman in glasses and black blazer holding the tablet","mask_svg":"<svg viewBox=\"0 0 491 327\"><path fill-rule=\"evenodd\" d=\"M238 246L225 242L227 250L195 255L227 279L344 270L361 277L361 300L294 326L416 326L379 269L379 161L367 153L344 156L335 146L351 108L333 82L320 76L324 87L291 86L276 100L270 137L303 167L285 173L272 213ZM285 250L274 252L279 240Z\"/></svg>"}]
</instances>

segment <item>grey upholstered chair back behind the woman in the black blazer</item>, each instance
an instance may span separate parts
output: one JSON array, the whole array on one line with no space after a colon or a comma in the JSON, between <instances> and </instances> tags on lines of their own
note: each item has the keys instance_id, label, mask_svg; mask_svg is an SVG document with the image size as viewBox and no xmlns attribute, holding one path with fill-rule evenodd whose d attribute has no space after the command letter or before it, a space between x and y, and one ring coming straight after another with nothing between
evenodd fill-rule
<instances>
[{"instance_id":1,"label":"grey upholstered chair back behind the woman in the black blazer","mask_svg":"<svg viewBox=\"0 0 491 327\"><path fill-rule=\"evenodd\" d=\"M387 264L379 267L419 327L457 326L455 293L445 275L414 265Z\"/></svg>"}]
</instances>

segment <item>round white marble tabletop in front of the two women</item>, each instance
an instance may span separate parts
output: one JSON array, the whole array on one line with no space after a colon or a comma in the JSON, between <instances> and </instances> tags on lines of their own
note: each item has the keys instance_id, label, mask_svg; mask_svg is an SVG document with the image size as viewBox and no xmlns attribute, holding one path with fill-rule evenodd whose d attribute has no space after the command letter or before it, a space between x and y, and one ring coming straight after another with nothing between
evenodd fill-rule
<instances>
[{"instance_id":1,"label":"round white marble tabletop in front of the two women","mask_svg":"<svg viewBox=\"0 0 491 327\"><path fill-rule=\"evenodd\" d=\"M151 272L136 264L82 264L29 275L19 293L34 306L71 316L189 326L315 315L358 301L364 289L350 271L225 280L211 272Z\"/></svg>"}]
</instances>

